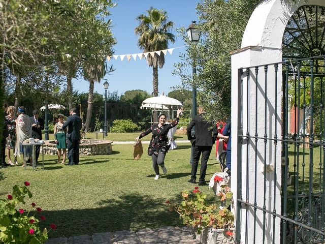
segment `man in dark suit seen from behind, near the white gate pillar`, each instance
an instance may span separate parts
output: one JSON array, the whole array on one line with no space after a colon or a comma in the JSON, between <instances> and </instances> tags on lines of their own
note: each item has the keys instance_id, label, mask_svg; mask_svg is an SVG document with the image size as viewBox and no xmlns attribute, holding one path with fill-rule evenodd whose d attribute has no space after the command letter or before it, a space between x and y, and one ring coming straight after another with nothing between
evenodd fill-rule
<instances>
[{"instance_id":1,"label":"man in dark suit seen from behind, near the white gate pillar","mask_svg":"<svg viewBox=\"0 0 325 244\"><path fill-rule=\"evenodd\" d=\"M205 120L206 112L203 106L199 106L199 115L196 115L187 127L187 138L191 141L193 146L193 163L191 169L190 183L196 183L198 164L201 158L200 179L199 186L207 185L205 182L205 173L207 170L207 163L210 157L212 145L214 144L218 131L213 124ZM195 126L195 137L192 137L191 130Z\"/></svg>"}]
</instances>

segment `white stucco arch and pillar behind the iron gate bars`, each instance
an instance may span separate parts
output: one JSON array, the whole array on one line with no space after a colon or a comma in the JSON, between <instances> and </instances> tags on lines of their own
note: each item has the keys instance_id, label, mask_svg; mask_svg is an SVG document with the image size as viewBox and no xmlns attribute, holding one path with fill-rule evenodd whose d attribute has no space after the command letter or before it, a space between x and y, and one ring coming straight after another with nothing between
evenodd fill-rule
<instances>
[{"instance_id":1,"label":"white stucco arch and pillar behind the iron gate bars","mask_svg":"<svg viewBox=\"0 0 325 244\"><path fill-rule=\"evenodd\" d=\"M262 4L258 5L254 12L252 13L248 24L246 26L245 32L243 34L242 43L241 43L241 49L235 50L232 52L232 179L231 179L231 186L232 191L234 192L234 197L237 198L237 189L235 186L239 184L242 184L243 182L246 182L246 175L241 174L242 182L237 182L239 178L239 172L237 171L237 162L238 162L238 130L239 130L239 114L242 112L243 117L243 135L246 134L246 111L250 111L251 109L254 109L255 100L254 97L249 97L249 104L246 103L245 96L250 96L250 94L254 93L254 91L251 92L251 90L246 90L246 84L245 80L243 80L243 90L242 94L244 96L243 104L242 104L242 110L239 111L237 108L238 105L238 98L239 98L239 82L238 82L238 70L240 68L245 67L254 67L254 66L262 66L266 64L272 64L272 63L281 63L282 62L282 38L284 34L285 27L290 19L290 17L295 13L295 11L304 5L318 5L318 6L324 6L325 7L325 0L298 0L296 3L292 3L290 0L266 0ZM282 66L279 65L279 71L282 70ZM275 80L274 73L272 73L272 77L269 77L269 80ZM260 77L261 76L261 77ZM264 73L260 72L258 74L258 81L262 81L264 79ZM252 79L256 78L254 77L254 74L251 74ZM272 101L272 98L275 98L275 94L277 93L277 114L272 114L271 112L268 114L268 118L270 120L268 121L268 127L274 127L274 124L276 119L274 117L281 118L281 84L282 84L282 73L278 72L277 77L277 87L278 91L272 90L272 85L274 86L274 83L268 87L268 97L270 97L270 104L275 104L275 101ZM259 98L263 98L263 88L264 85L261 85L261 89L258 91ZM249 89L254 89L254 87L249 87ZM242 95L241 94L241 95ZM269 105L268 105L269 106ZM260 109L260 108L258 108ZM261 109L265 111L264 106L261 106ZM268 111L274 111L274 107L268 107ZM249 118L250 120L254 120L252 117ZM261 121L257 121L257 127L263 131L265 128L264 119L260 119ZM255 125L254 125L255 126ZM277 121L277 135L281 135L281 121ZM253 131L253 130L252 130ZM252 132L251 131L251 132ZM259 150L260 148L257 148L256 150ZM277 150L280 150L278 148ZM261 151L263 149L261 148ZM273 154L272 151L270 154ZM243 158L246 157L246 152L242 152ZM251 149L251 151L248 153L249 155L254 155L254 150ZM281 154L277 153L277 162L281 162ZM272 165L273 159L268 161L268 164ZM260 162L259 162L260 163ZM246 170L246 166L243 166L242 170ZM281 165L278 163L277 167L274 169L277 173L277 175L281 175ZM245 171L244 171L245 172ZM252 189L254 189L254 171L249 168L250 178L248 180L249 186L247 189L249 189L249 193L245 192L246 188L242 188L242 196L251 194ZM257 173L257 182L258 180L261 180L262 174L261 174L261 168L258 167L258 173ZM274 182L271 182L272 179L269 179L267 190L270 189L270 192L274 189L272 189ZM280 196L280 186L281 186L281 177L278 177L276 180L276 185L279 186L276 190L276 201L278 208L276 209L277 213L281 212L281 196ZM259 188L257 193L257 203L258 201L263 199L263 191L261 191L261 188ZM273 197L270 196L267 199L267 206L272 205ZM235 211L237 210L235 202ZM259 203L258 203L259 204ZM251 212L252 208L249 208L248 212L249 214L252 214ZM241 212L241 219L245 219L245 209L242 209ZM261 218L261 215L258 214L257 218ZM263 218L263 217L262 217ZM268 228L272 229L273 223L272 221L269 221L272 219L272 216L267 216L267 226ZM252 223L252 219L250 218L248 220L249 223ZM276 222L276 233L274 236L272 236L271 233L266 233L266 242L265 243L272 243L272 240L274 239L275 243L280 243L280 221L277 220ZM240 231L242 235L245 235L245 233L251 233L251 227L248 226L246 228L245 224L241 225ZM251 234L246 234L246 236L242 236L241 243L243 244L250 244L252 242L252 236ZM257 224L256 228L256 243L262 243L263 239L263 230L261 228L261 224Z\"/></svg>"}]
</instances>

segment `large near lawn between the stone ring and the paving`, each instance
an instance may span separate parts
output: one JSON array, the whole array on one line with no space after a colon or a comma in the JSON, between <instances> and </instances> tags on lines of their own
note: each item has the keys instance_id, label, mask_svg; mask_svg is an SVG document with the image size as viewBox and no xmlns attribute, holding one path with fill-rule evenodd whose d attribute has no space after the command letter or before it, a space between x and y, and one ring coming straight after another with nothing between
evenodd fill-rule
<instances>
[{"instance_id":1,"label":"large near lawn between the stone ring and the paving","mask_svg":"<svg viewBox=\"0 0 325 244\"><path fill-rule=\"evenodd\" d=\"M10 193L13 185L28 180L33 197L24 208L32 210L30 203L35 202L43 209L46 220L41 227L57 225L50 237L181 226L176 212L168 211L166 200L179 200L181 191L197 186L187 182L189 157L190 144L178 143L166 156L167 174L154 180L151 158L144 154L134 160L132 144L113 145L111 155L81 157L77 166L57 164L56 156L45 156L45 170L3 169L6 178L0 181L0 198ZM206 180L219 170L213 149ZM200 190L216 201L207 186Z\"/></svg>"}]
</instances>

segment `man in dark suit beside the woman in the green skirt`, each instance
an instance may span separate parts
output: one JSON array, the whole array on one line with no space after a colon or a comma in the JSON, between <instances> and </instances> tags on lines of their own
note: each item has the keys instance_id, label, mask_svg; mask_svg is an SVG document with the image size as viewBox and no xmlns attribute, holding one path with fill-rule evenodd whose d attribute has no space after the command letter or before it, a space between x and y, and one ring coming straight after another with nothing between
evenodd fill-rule
<instances>
[{"instance_id":1,"label":"man in dark suit beside the woman in the green skirt","mask_svg":"<svg viewBox=\"0 0 325 244\"><path fill-rule=\"evenodd\" d=\"M70 116L67 118L66 123L62 126L62 129L65 130L68 126L68 165L79 164L79 145L80 145L80 130L81 130L81 118L77 114L77 109L70 109Z\"/></svg>"}]
</instances>

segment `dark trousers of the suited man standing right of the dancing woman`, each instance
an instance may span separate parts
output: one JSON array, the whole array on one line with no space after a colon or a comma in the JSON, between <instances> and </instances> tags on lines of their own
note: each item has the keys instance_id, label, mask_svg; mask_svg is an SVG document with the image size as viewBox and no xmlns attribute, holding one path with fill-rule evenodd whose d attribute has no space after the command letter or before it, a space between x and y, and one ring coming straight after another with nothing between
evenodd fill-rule
<instances>
[{"instance_id":1,"label":"dark trousers of the suited man standing right of the dancing woman","mask_svg":"<svg viewBox=\"0 0 325 244\"><path fill-rule=\"evenodd\" d=\"M197 171L200 156L201 157L201 168L200 168L200 179L199 183L205 181L205 173L207 171L207 163L210 157L212 146L198 146L196 145L193 149L193 163L192 163L192 170L191 170L191 179L194 181L197 179Z\"/></svg>"}]
</instances>

